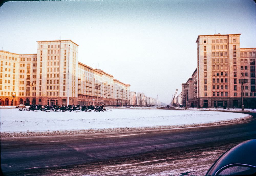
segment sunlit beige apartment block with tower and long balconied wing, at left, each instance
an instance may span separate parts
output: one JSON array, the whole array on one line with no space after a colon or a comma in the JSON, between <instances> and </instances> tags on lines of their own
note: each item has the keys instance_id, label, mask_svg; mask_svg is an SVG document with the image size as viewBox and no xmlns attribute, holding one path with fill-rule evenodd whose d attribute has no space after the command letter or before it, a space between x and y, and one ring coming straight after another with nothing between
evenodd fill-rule
<instances>
[{"instance_id":1,"label":"sunlit beige apartment block with tower and long balconied wing, at left","mask_svg":"<svg viewBox=\"0 0 256 176\"><path fill-rule=\"evenodd\" d=\"M36 54L0 50L0 105L129 105L130 85L78 62L72 40L37 45Z\"/></svg>"}]
</instances>

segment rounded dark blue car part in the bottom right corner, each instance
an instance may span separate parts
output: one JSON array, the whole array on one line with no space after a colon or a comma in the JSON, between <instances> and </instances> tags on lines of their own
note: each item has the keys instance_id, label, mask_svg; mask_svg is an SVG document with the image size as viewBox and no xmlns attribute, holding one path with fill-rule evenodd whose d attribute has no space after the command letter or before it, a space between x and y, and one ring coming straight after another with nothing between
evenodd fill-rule
<instances>
[{"instance_id":1,"label":"rounded dark blue car part in the bottom right corner","mask_svg":"<svg viewBox=\"0 0 256 176\"><path fill-rule=\"evenodd\" d=\"M251 174L256 174L256 139L244 141L222 154L206 173L206 175Z\"/></svg>"}]
</instances>

